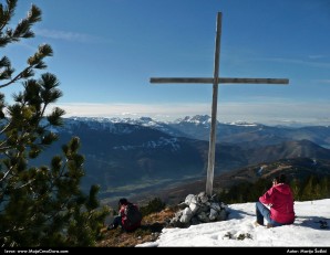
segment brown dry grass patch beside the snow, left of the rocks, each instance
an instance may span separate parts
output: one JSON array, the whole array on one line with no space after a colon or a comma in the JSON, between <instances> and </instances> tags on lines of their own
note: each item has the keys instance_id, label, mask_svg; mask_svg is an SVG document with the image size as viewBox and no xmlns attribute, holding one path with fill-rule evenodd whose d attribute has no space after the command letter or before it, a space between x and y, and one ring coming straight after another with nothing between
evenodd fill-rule
<instances>
[{"instance_id":1,"label":"brown dry grass patch beside the snow, left of the rocks","mask_svg":"<svg viewBox=\"0 0 330 255\"><path fill-rule=\"evenodd\" d=\"M137 244L154 242L158 238L162 230L174 217L174 209L165 209L158 213L146 215L142 220L140 229L132 233L127 233L117 227L116 230L102 230L102 240L97 243L97 247L134 247Z\"/></svg>"}]
</instances>

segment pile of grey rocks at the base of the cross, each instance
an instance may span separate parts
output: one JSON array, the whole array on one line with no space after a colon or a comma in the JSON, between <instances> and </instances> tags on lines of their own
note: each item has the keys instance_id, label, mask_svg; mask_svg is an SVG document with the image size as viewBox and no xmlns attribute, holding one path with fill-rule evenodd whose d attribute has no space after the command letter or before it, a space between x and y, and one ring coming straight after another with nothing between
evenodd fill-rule
<instances>
[{"instance_id":1,"label":"pile of grey rocks at the base of the cross","mask_svg":"<svg viewBox=\"0 0 330 255\"><path fill-rule=\"evenodd\" d=\"M205 192L197 195L188 194L178 206L179 211L169 221L169 226L188 227L200 223L225 221L229 214L225 203L214 196L209 198Z\"/></svg>"}]
</instances>

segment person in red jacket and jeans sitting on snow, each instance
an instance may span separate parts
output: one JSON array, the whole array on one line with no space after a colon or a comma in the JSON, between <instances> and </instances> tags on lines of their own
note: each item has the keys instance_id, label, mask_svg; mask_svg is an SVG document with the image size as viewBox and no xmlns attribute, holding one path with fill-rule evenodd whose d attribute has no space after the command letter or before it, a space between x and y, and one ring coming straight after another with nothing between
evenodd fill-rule
<instances>
[{"instance_id":1,"label":"person in red jacket and jeans sitting on snow","mask_svg":"<svg viewBox=\"0 0 330 255\"><path fill-rule=\"evenodd\" d=\"M264 219L266 219L268 222L267 227L295 222L293 195L290 187L286 183L285 174L276 177L272 187L259 198L256 203L256 224L264 225Z\"/></svg>"}]
</instances>

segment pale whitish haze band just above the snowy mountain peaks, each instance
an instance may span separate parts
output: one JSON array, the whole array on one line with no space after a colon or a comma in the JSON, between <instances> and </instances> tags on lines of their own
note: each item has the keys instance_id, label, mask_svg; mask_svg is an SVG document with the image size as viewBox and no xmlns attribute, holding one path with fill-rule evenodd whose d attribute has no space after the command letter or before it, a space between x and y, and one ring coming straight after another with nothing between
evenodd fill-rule
<instances>
[{"instance_id":1,"label":"pale whitish haze band just above the snowy mountain peaks","mask_svg":"<svg viewBox=\"0 0 330 255\"><path fill-rule=\"evenodd\" d=\"M134 105L134 104L68 104L56 105L63 108L66 114L65 118L70 117L104 117L104 118L140 118L151 117L159 121L173 121L186 116L208 115L210 116L210 106L207 104L199 105ZM240 108L240 109L238 109ZM276 108L276 106L274 106ZM281 109L271 111L271 106L260 104L241 104L241 105L220 105L217 110L217 120L219 123L257 123L269 126L330 126L330 117L322 117L319 114L326 114L327 108L320 107L318 111L313 108L310 115L301 116L295 113L297 107L287 106ZM308 106L301 110L308 110ZM257 114L251 115L249 113ZM323 115L324 116L324 115Z\"/></svg>"}]
</instances>

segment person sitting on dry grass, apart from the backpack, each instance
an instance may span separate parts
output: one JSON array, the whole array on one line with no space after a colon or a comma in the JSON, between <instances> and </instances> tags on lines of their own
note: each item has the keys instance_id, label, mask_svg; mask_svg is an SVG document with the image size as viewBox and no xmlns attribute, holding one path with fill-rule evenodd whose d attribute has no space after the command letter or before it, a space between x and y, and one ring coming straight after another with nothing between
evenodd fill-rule
<instances>
[{"instance_id":1,"label":"person sitting on dry grass, apart from the backpack","mask_svg":"<svg viewBox=\"0 0 330 255\"><path fill-rule=\"evenodd\" d=\"M117 226L121 226L123 230L130 232L130 231L135 231L137 227L141 226L141 221L131 224L127 215L125 213L125 209L128 204L132 204L131 202L127 201L127 199L120 199L118 201L118 215L114 217L113 223L107 226L107 230L115 230ZM137 208L136 204L134 206ZM137 208L138 209L138 208Z\"/></svg>"}]
</instances>

